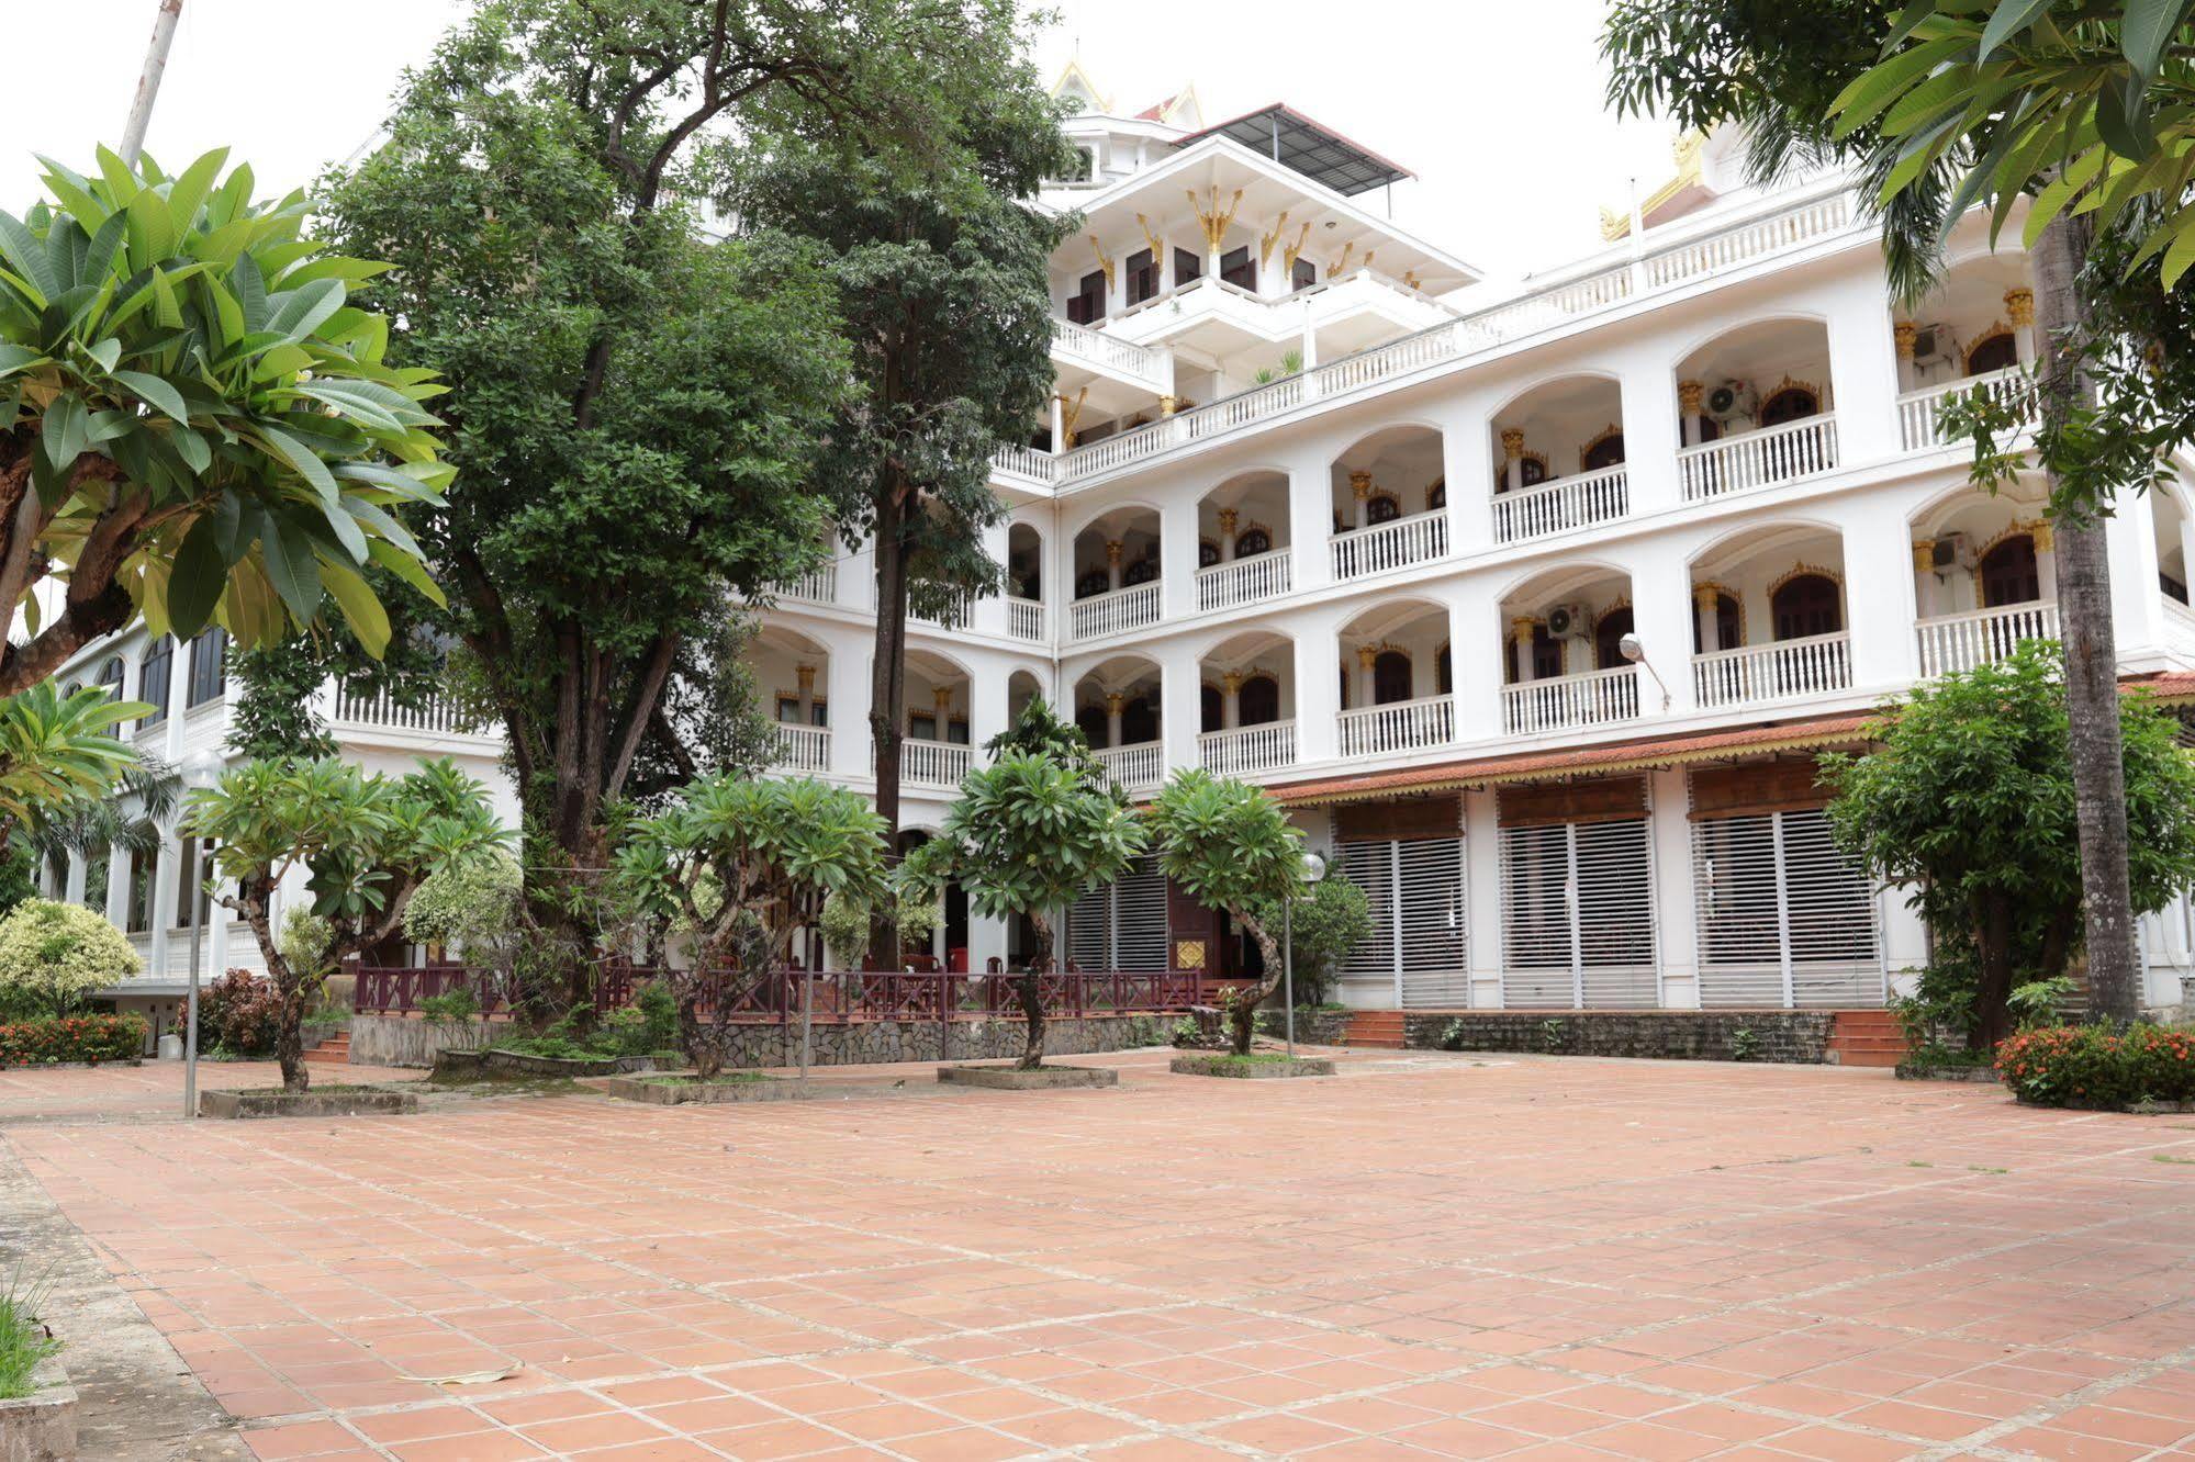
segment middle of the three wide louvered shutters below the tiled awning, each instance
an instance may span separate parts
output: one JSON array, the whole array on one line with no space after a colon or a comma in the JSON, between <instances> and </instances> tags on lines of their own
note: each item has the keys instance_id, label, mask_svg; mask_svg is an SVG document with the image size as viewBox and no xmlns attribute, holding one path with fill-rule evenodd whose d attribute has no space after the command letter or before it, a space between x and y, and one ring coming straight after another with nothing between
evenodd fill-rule
<instances>
[{"instance_id":1,"label":"middle of the three wide louvered shutters below the tiled awning","mask_svg":"<svg viewBox=\"0 0 2195 1462\"><path fill-rule=\"evenodd\" d=\"M1646 819L1501 830L1501 1003L1651 1008L1653 845Z\"/></svg>"}]
</instances>

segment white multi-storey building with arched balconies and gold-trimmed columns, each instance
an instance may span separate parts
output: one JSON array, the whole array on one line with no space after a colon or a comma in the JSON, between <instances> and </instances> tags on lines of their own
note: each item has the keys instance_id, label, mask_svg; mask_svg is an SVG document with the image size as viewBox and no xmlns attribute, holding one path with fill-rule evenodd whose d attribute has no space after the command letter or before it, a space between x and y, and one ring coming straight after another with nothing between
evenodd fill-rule
<instances>
[{"instance_id":1,"label":"white multi-storey building with arched balconies and gold-trimmed columns","mask_svg":"<svg viewBox=\"0 0 2195 1462\"><path fill-rule=\"evenodd\" d=\"M1879 1005L1925 937L1831 850L1813 753L2057 630L2039 496L1978 494L1936 428L2033 358L2026 259L1969 228L1901 314L1842 180L1763 193L1690 140L1605 252L1493 290L1387 220L1403 169L1288 108L1207 127L1194 92L1126 116L1080 66L1060 90L1084 167L1045 202L1084 226L1051 266L1058 391L997 459L1012 593L911 628L902 836L1045 696L1139 797L1205 766L1291 806L1372 896L1350 1005ZM2184 700L2191 503L2109 527L2120 670ZM764 615L784 771L874 788L871 637L867 553ZM217 645L138 628L64 678L165 700L136 738L191 779L219 755ZM325 694L360 762L457 755L509 803L498 738ZM184 867L171 841L48 871L145 951L116 994L156 1016ZM257 964L237 924L198 940ZM1018 948L948 898L939 957ZM1069 953L1238 972L1256 946L1144 871L1082 900ZM2145 953L2175 1003L2186 902Z\"/></svg>"}]
</instances>

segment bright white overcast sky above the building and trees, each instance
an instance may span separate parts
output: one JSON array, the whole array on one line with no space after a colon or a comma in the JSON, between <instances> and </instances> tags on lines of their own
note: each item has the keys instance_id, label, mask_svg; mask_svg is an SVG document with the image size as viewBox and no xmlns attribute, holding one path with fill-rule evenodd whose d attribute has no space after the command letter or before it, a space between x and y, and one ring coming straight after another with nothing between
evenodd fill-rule
<instances>
[{"instance_id":1,"label":"bright white overcast sky above the building and trees","mask_svg":"<svg viewBox=\"0 0 2195 1462\"><path fill-rule=\"evenodd\" d=\"M1124 110L1194 81L1205 121L1286 101L1418 173L1396 222L1493 277L1598 248L1670 171L1670 130L1600 105L1600 0L1049 0L1045 79L1080 46ZM0 206L22 213L48 154L90 169L121 134L154 0L9 4ZM147 149L180 167L228 145L268 193L373 136L404 66L461 0L184 0ZM20 11L20 13L18 13ZM1363 202L1376 206L1376 195Z\"/></svg>"}]
</instances>

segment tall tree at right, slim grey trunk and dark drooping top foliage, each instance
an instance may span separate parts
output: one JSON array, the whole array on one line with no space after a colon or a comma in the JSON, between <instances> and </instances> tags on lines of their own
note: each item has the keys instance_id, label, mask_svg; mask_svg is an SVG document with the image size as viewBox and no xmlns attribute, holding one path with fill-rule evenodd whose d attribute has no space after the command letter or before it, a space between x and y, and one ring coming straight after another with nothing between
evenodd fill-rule
<instances>
[{"instance_id":1,"label":"tall tree at right, slim grey trunk and dark drooping top foliage","mask_svg":"<svg viewBox=\"0 0 2195 1462\"><path fill-rule=\"evenodd\" d=\"M1967 83L1967 94L1932 116L1916 145L1894 130L1907 110L1855 112L1864 77L1883 61L1927 81L1925 101L1951 99L1958 77L1929 79L1949 50L1914 50L1934 0L1894 11L1879 0L1618 0L1609 11L1602 55L1611 66L1609 101L1618 112L1659 112L1684 127L1738 123L1752 140L1763 178L1798 160L1848 165L1872 184L1883 222L1892 288L1916 299L1934 279L1943 239L1986 198L1975 176L1993 180L1995 136L1980 130L2000 99L1993 81ZM1958 7L1962 20L1989 13L2037 15L2050 0L1989 0ZM2107 7L2109 9L2109 7ZM1932 61L1934 57L1934 61ZM1986 169L1973 169L1975 160ZM2072 417L2094 402L2087 380L2092 331L2076 279L2087 261L2087 228L2052 220L2033 241L2035 325L2046 338L2039 360L2046 417ZM2072 784L2079 806L2081 869L2087 913L2092 999L2103 1014L2140 1008L2140 961L2127 891L2127 810L2118 729L2118 650L2112 626L2109 560L2101 509L2081 501L2061 476L2048 437L2037 463L2050 476L2057 527L2059 623L2065 641L2065 707L2072 722ZM1975 441L1975 476L1995 485L1997 457Z\"/></svg>"}]
</instances>

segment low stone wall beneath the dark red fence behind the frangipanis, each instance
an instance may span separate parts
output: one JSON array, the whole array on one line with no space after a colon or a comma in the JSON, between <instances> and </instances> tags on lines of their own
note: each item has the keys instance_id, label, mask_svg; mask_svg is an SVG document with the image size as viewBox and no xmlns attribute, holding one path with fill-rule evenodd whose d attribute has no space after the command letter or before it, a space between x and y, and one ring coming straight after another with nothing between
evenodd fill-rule
<instances>
[{"instance_id":1,"label":"low stone wall beneath the dark red fence behind the frangipanis","mask_svg":"<svg viewBox=\"0 0 2195 1462\"><path fill-rule=\"evenodd\" d=\"M1166 1045L1174 1016L1084 1016L1045 1023L1045 1056L1087 1056ZM950 1045L939 1054L937 1021L858 1021L817 1025L810 1060L819 1067L852 1067L887 1060L1003 1060L1021 1056L1021 1021L955 1021ZM415 1016L353 1016L351 1062L371 1067L430 1067L441 1049L441 1032ZM792 1067L801 1058L801 1027L735 1025L733 1067Z\"/></svg>"}]
</instances>

